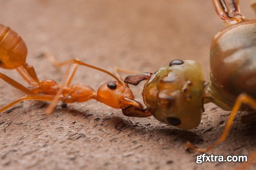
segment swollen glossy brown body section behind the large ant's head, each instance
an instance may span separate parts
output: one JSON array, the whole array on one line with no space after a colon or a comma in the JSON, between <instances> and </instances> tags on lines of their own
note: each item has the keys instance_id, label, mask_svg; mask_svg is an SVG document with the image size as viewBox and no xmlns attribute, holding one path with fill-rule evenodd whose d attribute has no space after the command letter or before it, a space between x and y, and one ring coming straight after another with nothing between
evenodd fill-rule
<instances>
[{"instance_id":1,"label":"swollen glossy brown body section behind the large ant's head","mask_svg":"<svg viewBox=\"0 0 256 170\"><path fill-rule=\"evenodd\" d=\"M210 48L210 88L217 98L230 101L243 92L256 98L255 51L256 20L237 23L215 36Z\"/></svg>"}]
</instances>

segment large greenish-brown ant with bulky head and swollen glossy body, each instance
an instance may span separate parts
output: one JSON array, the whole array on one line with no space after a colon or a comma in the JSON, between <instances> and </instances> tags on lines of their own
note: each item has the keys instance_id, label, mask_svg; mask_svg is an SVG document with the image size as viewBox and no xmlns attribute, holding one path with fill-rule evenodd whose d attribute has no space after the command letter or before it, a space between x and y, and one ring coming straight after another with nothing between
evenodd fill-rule
<instances>
[{"instance_id":1,"label":"large greenish-brown ant with bulky head and swollen glossy body","mask_svg":"<svg viewBox=\"0 0 256 170\"><path fill-rule=\"evenodd\" d=\"M187 142L186 149L207 152L224 141L239 110L256 110L256 20L240 13L239 2L212 0L217 14L228 26L211 41L210 75L205 82L196 61L173 60L154 74L144 72L128 76L127 84L147 80L142 92L144 104L160 122L181 129L196 128L201 122L203 105L214 103L231 111L221 137L206 149ZM124 109L125 110L125 109ZM242 122L256 120L256 112L242 117Z\"/></svg>"}]
</instances>

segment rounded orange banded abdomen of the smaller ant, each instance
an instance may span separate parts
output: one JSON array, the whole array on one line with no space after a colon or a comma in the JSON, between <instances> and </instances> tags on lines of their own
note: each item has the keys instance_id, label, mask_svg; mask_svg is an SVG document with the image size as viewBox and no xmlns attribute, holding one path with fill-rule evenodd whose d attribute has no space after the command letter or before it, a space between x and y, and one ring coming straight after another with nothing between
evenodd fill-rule
<instances>
[{"instance_id":1,"label":"rounded orange banded abdomen of the smaller ant","mask_svg":"<svg viewBox=\"0 0 256 170\"><path fill-rule=\"evenodd\" d=\"M26 63L27 46L9 27L0 24L0 67L14 69Z\"/></svg>"}]
</instances>

